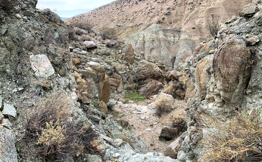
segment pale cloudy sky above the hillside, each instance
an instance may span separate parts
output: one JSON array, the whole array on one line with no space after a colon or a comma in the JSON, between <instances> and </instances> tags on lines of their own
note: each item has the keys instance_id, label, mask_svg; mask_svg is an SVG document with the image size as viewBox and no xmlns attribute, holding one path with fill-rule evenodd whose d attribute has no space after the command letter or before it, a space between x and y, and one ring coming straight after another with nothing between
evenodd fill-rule
<instances>
[{"instance_id":1,"label":"pale cloudy sky above the hillside","mask_svg":"<svg viewBox=\"0 0 262 162\"><path fill-rule=\"evenodd\" d=\"M70 18L115 0L38 0L37 8L56 9L60 17Z\"/></svg>"}]
</instances>

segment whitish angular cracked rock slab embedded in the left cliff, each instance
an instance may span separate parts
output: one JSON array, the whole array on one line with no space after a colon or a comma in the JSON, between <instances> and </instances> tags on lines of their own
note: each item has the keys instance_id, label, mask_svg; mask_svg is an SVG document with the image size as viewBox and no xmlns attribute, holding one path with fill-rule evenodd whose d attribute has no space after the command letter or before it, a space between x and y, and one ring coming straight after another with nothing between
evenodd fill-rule
<instances>
[{"instance_id":1,"label":"whitish angular cracked rock slab embedded in the left cliff","mask_svg":"<svg viewBox=\"0 0 262 162\"><path fill-rule=\"evenodd\" d=\"M46 55L32 56L31 68L37 77L50 77L54 74L54 68Z\"/></svg>"}]
</instances>

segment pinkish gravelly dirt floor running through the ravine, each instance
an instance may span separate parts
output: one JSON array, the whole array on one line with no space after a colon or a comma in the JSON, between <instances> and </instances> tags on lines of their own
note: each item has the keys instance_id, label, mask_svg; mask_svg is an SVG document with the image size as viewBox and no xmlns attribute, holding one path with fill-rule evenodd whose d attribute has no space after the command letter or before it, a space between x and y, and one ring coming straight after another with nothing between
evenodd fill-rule
<instances>
[{"instance_id":1,"label":"pinkish gravelly dirt floor running through the ravine","mask_svg":"<svg viewBox=\"0 0 262 162\"><path fill-rule=\"evenodd\" d=\"M149 100L139 101L136 104L124 104L117 105L115 109L123 114L123 116L128 120L130 125L133 125L135 131L134 135L140 137L144 141L145 145L148 147L149 152L164 152L164 148L168 146L171 141L160 141L158 136L161 133L162 126L171 126L172 116L179 114L185 116L186 102L184 100L175 99L176 109L168 114L162 115L160 118L155 115L155 110L146 110L146 103ZM142 110L141 110L142 109ZM141 113L141 114L140 114ZM141 117L145 117L144 120ZM147 117L149 117L147 119Z\"/></svg>"}]
</instances>

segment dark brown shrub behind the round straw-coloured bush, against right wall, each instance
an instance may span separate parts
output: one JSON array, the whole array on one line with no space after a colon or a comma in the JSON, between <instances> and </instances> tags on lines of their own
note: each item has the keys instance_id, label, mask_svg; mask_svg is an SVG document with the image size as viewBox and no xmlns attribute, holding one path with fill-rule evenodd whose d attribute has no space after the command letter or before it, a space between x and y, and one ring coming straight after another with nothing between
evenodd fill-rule
<instances>
[{"instance_id":1,"label":"dark brown shrub behind the round straw-coloured bush, against right wall","mask_svg":"<svg viewBox=\"0 0 262 162\"><path fill-rule=\"evenodd\" d=\"M170 83L164 93L170 94L173 98L184 99L185 98L185 84L177 82L176 80Z\"/></svg>"}]
</instances>

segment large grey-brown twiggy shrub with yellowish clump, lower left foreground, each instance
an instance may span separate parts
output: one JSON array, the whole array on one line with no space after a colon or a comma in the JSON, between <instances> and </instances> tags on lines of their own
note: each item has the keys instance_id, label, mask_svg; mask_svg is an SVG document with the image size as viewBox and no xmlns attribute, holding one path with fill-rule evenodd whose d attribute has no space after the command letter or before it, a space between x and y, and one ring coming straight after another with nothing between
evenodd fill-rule
<instances>
[{"instance_id":1,"label":"large grey-brown twiggy shrub with yellowish clump, lower left foreground","mask_svg":"<svg viewBox=\"0 0 262 162\"><path fill-rule=\"evenodd\" d=\"M70 120L69 96L47 93L29 98L24 105L24 140L36 139L39 154L46 160L68 161L77 152L94 152L90 142L98 135L86 123Z\"/></svg>"}]
</instances>

